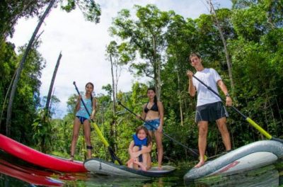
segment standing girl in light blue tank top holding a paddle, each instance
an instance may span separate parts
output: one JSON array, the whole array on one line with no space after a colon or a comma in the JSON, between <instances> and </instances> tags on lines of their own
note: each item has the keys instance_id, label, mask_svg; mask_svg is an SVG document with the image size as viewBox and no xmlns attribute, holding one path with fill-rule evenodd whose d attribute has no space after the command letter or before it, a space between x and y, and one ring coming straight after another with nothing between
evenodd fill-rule
<instances>
[{"instance_id":1,"label":"standing girl in light blue tank top holding a paddle","mask_svg":"<svg viewBox=\"0 0 283 187\"><path fill-rule=\"evenodd\" d=\"M87 158L91 159L91 123L89 122L90 119L93 119L96 115L96 98L93 98L91 95L93 92L93 84L88 82L86 84L86 92L83 96L79 95L76 101L76 118L74 120L74 127L73 127L73 137L71 139L71 158L70 160L74 160L74 154L76 150L76 142L79 137L79 130L81 125L83 125L83 134L86 140L86 149L87 149ZM86 104L86 108L83 106L81 99ZM88 115L88 112L91 116Z\"/></svg>"}]
</instances>

